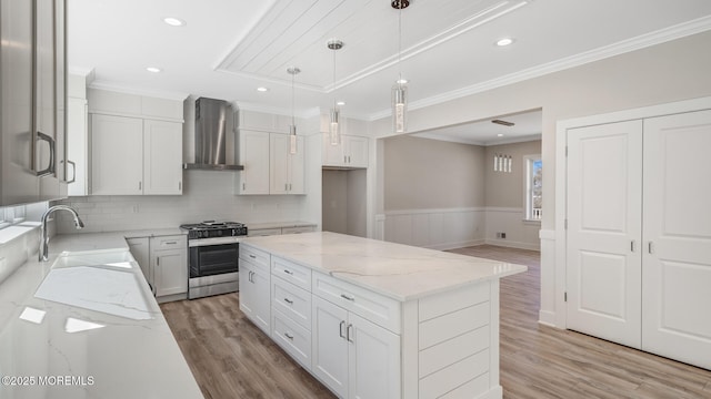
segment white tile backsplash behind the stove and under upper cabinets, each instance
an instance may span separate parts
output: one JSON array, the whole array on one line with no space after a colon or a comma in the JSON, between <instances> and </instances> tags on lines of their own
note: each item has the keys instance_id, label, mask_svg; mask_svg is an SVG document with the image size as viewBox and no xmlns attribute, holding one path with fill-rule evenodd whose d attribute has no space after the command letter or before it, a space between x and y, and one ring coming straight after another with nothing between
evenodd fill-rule
<instances>
[{"instance_id":1,"label":"white tile backsplash behind the stove and under upper cabinets","mask_svg":"<svg viewBox=\"0 0 711 399\"><path fill-rule=\"evenodd\" d=\"M171 228L201 221L270 223L301 219L303 195L232 194L234 173L183 172L183 195L82 196L61 204L77 209L82 233ZM58 233L76 233L68 213L57 214Z\"/></svg>"}]
</instances>

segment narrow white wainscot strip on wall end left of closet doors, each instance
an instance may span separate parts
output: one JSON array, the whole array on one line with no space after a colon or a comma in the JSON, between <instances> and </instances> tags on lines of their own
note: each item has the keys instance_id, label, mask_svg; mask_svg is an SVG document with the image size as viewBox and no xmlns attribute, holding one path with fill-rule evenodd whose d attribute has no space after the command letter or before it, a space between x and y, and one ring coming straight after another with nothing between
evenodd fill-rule
<instances>
[{"instance_id":1,"label":"narrow white wainscot strip on wall end left of closet doors","mask_svg":"<svg viewBox=\"0 0 711 399\"><path fill-rule=\"evenodd\" d=\"M540 324L555 325L555 231L541 229L541 309L538 314ZM560 326L559 326L560 327Z\"/></svg>"}]
</instances>

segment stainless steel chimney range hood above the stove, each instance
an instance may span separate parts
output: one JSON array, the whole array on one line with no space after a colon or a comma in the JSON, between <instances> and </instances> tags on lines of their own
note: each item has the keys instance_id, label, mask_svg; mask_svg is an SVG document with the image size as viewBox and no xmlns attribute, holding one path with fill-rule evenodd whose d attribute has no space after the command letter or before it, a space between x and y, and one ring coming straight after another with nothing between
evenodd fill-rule
<instances>
[{"instance_id":1,"label":"stainless steel chimney range hood above the stove","mask_svg":"<svg viewBox=\"0 0 711 399\"><path fill-rule=\"evenodd\" d=\"M227 119L230 104L223 100L196 100L196 163L187 170L241 171L244 166L226 162Z\"/></svg>"}]
</instances>

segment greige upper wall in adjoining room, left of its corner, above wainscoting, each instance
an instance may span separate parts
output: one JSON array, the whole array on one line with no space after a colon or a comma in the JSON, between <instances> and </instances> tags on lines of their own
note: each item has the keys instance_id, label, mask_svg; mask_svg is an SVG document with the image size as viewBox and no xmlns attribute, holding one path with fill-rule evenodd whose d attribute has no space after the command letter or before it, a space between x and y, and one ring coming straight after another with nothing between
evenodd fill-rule
<instances>
[{"instance_id":1,"label":"greige upper wall in adjoining room, left of its corner, above wainscoting","mask_svg":"<svg viewBox=\"0 0 711 399\"><path fill-rule=\"evenodd\" d=\"M384 211L484 205L484 150L412 136L384 140Z\"/></svg>"}]
</instances>

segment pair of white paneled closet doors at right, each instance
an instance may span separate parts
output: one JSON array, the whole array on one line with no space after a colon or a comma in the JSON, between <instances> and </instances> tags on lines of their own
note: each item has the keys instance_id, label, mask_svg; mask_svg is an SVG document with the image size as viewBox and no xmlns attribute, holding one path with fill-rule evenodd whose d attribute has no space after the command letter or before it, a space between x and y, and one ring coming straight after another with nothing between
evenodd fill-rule
<instances>
[{"instance_id":1,"label":"pair of white paneled closet doors at right","mask_svg":"<svg viewBox=\"0 0 711 399\"><path fill-rule=\"evenodd\" d=\"M567 139L568 328L711 369L711 111Z\"/></svg>"}]
</instances>

